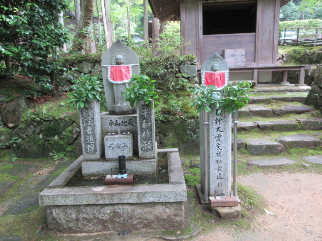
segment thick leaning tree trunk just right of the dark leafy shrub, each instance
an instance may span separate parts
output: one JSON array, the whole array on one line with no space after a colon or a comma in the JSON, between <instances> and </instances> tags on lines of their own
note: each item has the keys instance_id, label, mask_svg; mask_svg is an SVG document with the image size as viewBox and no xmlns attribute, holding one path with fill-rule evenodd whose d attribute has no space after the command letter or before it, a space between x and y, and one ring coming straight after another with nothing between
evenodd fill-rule
<instances>
[{"instance_id":1,"label":"thick leaning tree trunk just right of the dark leafy shrub","mask_svg":"<svg viewBox=\"0 0 322 241\"><path fill-rule=\"evenodd\" d=\"M76 27L74 37L75 40L71 47L71 49L74 51L84 52L87 34L82 30L86 27L90 27L92 24L94 14L94 1L95 0L82 0L80 20L79 24Z\"/></svg>"}]
</instances>

